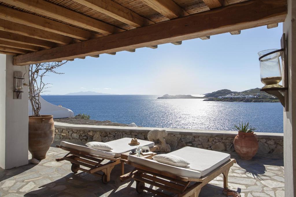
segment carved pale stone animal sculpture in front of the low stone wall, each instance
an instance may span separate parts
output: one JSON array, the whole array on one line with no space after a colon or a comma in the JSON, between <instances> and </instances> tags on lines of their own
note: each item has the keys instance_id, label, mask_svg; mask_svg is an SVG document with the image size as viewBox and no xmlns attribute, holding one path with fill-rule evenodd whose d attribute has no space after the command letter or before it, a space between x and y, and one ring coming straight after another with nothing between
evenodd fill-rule
<instances>
[{"instance_id":1,"label":"carved pale stone animal sculpture in front of the low stone wall","mask_svg":"<svg viewBox=\"0 0 296 197\"><path fill-rule=\"evenodd\" d=\"M163 130L158 130L158 129L153 129L149 131L147 134L147 138L149 141L155 141L159 140L161 144L155 144L156 146L159 146L159 152L170 152L170 144L167 144L165 142L165 136L168 135L168 132L166 132L164 129Z\"/></svg>"}]
</instances>

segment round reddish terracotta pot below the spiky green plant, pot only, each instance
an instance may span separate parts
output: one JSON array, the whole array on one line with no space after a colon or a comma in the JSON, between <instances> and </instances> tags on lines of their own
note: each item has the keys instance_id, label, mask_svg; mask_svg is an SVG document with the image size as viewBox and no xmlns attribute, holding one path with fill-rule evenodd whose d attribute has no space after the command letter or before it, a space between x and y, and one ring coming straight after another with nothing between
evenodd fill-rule
<instances>
[{"instance_id":1,"label":"round reddish terracotta pot below the spiky green plant, pot only","mask_svg":"<svg viewBox=\"0 0 296 197\"><path fill-rule=\"evenodd\" d=\"M239 132L234 138L234 149L244 160L250 160L258 151L258 141L254 132Z\"/></svg>"}]
</instances>

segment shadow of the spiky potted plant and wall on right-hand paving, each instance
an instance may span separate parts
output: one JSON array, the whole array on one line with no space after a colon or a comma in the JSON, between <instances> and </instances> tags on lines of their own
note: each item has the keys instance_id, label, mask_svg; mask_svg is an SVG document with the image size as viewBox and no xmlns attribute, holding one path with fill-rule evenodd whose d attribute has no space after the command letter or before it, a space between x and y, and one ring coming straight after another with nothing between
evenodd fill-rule
<instances>
[{"instance_id":1,"label":"shadow of the spiky potted plant and wall on right-hand paving","mask_svg":"<svg viewBox=\"0 0 296 197\"><path fill-rule=\"evenodd\" d=\"M266 170L266 165L284 166L284 161L280 156L273 156L272 158L266 155L256 154L252 160L242 160L237 154L231 154L237 160L237 164L243 168L244 174L252 175L254 179L258 178L264 180L265 177L270 177Z\"/></svg>"}]
</instances>

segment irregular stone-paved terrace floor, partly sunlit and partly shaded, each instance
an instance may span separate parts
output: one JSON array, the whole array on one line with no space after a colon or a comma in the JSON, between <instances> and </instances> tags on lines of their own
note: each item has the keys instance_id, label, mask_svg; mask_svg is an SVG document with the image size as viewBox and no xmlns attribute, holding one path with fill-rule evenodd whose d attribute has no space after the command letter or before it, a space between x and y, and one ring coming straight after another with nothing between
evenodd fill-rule
<instances>
[{"instance_id":1,"label":"irregular stone-paved terrace floor, partly sunlit and partly shaded","mask_svg":"<svg viewBox=\"0 0 296 197\"><path fill-rule=\"evenodd\" d=\"M50 147L47 158L38 165L25 165L11 170L0 170L0 196L153 196L152 193L138 194L132 180L120 182L120 166L116 166L111 181L105 185L100 177L78 171L73 174L67 161L56 162L67 152ZM30 154L29 154L30 157ZM229 188L239 191L242 197L284 197L283 159L274 155L258 155L251 161L244 161L233 153L231 158L237 164L229 172ZM132 167L126 166L125 170ZM225 196L222 194L222 175L203 187L200 196Z\"/></svg>"}]
</instances>

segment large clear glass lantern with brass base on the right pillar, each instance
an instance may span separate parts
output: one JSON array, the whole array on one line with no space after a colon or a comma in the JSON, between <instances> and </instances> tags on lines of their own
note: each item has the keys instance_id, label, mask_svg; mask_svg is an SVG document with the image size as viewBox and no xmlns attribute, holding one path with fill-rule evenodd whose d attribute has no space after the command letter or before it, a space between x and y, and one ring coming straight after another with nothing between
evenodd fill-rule
<instances>
[{"instance_id":1,"label":"large clear glass lantern with brass base on the right pillar","mask_svg":"<svg viewBox=\"0 0 296 197\"><path fill-rule=\"evenodd\" d=\"M265 84L262 88L282 87L279 82L281 77L281 64L279 63L279 56L281 49L269 49L260 51L260 78L261 82Z\"/></svg>"}]
</instances>

